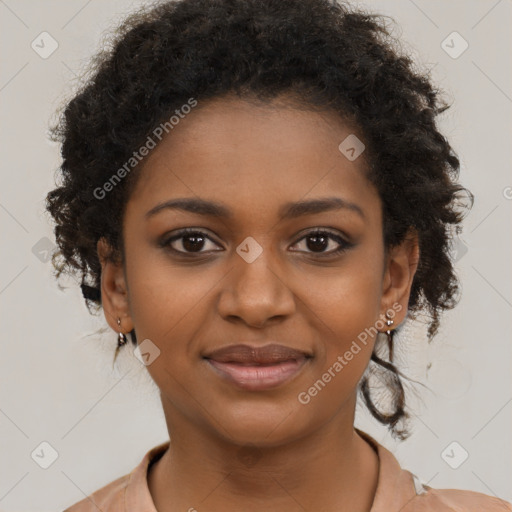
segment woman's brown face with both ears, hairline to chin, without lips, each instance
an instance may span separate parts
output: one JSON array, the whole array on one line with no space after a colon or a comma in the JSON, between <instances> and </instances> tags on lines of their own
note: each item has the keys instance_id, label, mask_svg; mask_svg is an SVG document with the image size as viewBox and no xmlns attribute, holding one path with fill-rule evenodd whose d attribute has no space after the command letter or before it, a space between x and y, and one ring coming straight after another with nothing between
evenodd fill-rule
<instances>
[{"instance_id":1,"label":"woman's brown face with both ears, hairline to chin, without lips","mask_svg":"<svg viewBox=\"0 0 512 512\"><path fill-rule=\"evenodd\" d=\"M114 330L121 317L123 332L160 351L147 370L168 424L271 446L353 422L371 327L385 330L386 310L403 320L417 253L385 253L363 157L338 149L352 133L334 115L224 98L146 157L124 217L124 268L102 261L102 296ZM178 199L200 207L169 204ZM240 343L311 357L248 389L204 358Z\"/></svg>"}]
</instances>

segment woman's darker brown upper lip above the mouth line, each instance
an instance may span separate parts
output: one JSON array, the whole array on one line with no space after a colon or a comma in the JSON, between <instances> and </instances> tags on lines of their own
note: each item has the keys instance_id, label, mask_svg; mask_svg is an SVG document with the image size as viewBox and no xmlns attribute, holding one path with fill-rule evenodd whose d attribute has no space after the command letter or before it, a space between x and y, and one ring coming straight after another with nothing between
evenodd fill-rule
<instances>
[{"instance_id":1,"label":"woman's darker brown upper lip above the mouth line","mask_svg":"<svg viewBox=\"0 0 512 512\"><path fill-rule=\"evenodd\" d=\"M303 350L297 350L285 345L271 343L262 347L239 344L213 350L204 356L220 363L257 363L269 364L283 361L300 360L312 357Z\"/></svg>"}]
</instances>

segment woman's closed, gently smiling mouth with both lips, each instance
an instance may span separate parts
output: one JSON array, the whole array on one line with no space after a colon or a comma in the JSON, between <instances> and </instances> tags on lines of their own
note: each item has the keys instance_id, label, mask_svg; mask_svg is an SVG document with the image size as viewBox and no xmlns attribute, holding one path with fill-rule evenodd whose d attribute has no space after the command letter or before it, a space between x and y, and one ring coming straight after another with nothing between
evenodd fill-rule
<instances>
[{"instance_id":1,"label":"woman's closed, gently smiling mouth with both lips","mask_svg":"<svg viewBox=\"0 0 512 512\"><path fill-rule=\"evenodd\" d=\"M263 391L292 380L312 355L284 345L231 345L203 356L215 374L247 391Z\"/></svg>"}]
</instances>

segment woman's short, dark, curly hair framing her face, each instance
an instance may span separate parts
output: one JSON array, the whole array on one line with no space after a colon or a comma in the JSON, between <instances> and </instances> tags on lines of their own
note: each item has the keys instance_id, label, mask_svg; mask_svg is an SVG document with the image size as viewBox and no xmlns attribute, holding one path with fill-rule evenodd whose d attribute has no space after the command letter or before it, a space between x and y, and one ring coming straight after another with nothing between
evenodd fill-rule
<instances>
[{"instance_id":1,"label":"woman's short, dark, curly hair framing her face","mask_svg":"<svg viewBox=\"0 0 512 512\"><path fill-rule=\"evenodd\" d=\"M332 0L165 1L125 18L50 130L63 158L61 183L46 198L57 277L79 273L89 310L100 309L96 244L105 238L110 257L123 260L124 207L141 166L108 200L94 191L190 97L204 102L235 93L270 102L285 95L358 127L367 177L382 200L386 249L411 227L418 234L408 312L428 313L430 341L440 313L458 301L451 241L461 231L462 195L471 204L473 196L457 183L459 159L436 126L449 105L429 72L402 51L386 18ZM136 345L134 331L131 338ZM376 354L372 360L390 372L395 412L375 407L366 378L360 391L373 416L403 439L400 372Z\"/></svg>"}]
</instances>

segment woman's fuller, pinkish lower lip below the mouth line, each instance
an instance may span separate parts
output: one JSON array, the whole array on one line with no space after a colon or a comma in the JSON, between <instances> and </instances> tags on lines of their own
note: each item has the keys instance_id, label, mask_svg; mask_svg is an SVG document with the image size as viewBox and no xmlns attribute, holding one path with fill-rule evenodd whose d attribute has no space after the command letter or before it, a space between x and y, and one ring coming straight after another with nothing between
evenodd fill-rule
<instances>
[{"instance_id":1,"label":"woman's fuller, pinkish lower lip below the mouth line","mask_svg":"<svg viewBox=\"0 0 512 512\"><path fill-rule=\"evenodd\" d=\"M283 361L272 365L245 366L236 363L220 363L206 360L213 370L242 389L261 391L272 389L291 380L297 375L307 359Z\"/></svg>"}]
</instances>

